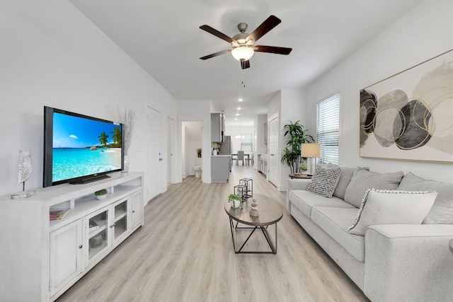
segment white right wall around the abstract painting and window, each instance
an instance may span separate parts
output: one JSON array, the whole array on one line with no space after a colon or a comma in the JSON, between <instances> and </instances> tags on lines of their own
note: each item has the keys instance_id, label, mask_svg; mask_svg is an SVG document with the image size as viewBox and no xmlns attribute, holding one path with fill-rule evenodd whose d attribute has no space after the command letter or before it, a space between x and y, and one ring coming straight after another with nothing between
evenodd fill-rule
<instances>
[{"instance_id":1,"label":"white right wall around the abstract painting and window","mask_svg":"<svg viewBox=\"0 0 453 302\"><path fill-rule=\"evenodd\" d=\"M307 89L308 126L316 129L316 103L340 92L340 165L369 166L377 172L412 171L423 178L453 182L453 166L386 161L359 156L359 91L453 49L453 1L423 1Z\"/></svg>"}]
</instances>

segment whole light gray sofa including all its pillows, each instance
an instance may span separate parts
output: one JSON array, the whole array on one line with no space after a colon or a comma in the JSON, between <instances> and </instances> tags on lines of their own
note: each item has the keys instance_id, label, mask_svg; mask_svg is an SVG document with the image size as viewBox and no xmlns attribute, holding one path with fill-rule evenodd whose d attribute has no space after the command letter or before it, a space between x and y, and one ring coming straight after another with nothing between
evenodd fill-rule
<instances>
[{"instance_id":1,"label":"whole light gray sofa including all its pillows","mask_svg":"<svg viewBox=\"0 0 453 302\"><path fill-rule=\"evenodd\" d=\"M370 300L453 301L452 184L318 166L287 209Z\"/></svg>"}]
</instances>

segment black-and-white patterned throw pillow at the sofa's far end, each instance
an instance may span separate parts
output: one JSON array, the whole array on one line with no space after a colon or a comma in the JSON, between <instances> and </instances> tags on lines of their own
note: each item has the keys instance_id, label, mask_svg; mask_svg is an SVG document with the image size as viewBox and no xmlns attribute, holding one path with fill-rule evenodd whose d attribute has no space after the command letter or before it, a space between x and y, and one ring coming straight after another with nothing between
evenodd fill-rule
<instances>
[{"instance_id":1,"label":"black-and-white patterned throw pillow at the sofa's far end","mask_svg":"<svg viewBox=\"0 0 453 302\"><path fill-rule=\"evenodd\" d=\"M321 165L317 165L306 190L323 197L332 197L338 179L340 179L340 172L341 169L339 167L323 168Z\"/></svg>"}]
</instances>

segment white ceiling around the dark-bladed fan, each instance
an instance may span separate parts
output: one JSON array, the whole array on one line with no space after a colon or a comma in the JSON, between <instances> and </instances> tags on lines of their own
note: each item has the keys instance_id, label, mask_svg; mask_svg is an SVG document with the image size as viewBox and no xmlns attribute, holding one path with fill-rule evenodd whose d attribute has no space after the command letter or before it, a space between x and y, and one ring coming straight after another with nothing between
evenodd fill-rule
<instances>
[{"instance_id":1,"label":"white ceiling around the dark-bladed fan","mask_svg":"<svg viewBox=\"0 0 453 302\"><path fill-rule=\"evenodd\" d=\"M211 100L227 124L236 112L246 124L277 91L305 88L422 0L69 1L177 100ZM288 56L256 53L244 70L231 54L199 59L231 48L200 25L233 37L238 23L251 33L270 15L282 23L258 44L291 47Z\"/></svg>"}]
</instances>

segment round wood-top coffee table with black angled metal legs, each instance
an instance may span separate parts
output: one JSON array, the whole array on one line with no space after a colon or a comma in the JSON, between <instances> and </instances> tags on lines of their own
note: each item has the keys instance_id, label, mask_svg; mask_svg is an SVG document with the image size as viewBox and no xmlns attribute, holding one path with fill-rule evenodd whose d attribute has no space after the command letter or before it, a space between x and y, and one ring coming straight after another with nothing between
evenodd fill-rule
<instances>
[{"instance_id":1,"label":"round wood-top coffee table with black angled metal legs","mask_svg":"<svg viewBox=\"0 0 453 302\"><path fill-rule=\"evenodd\" d=\"M258 204L258 217L250 216L251 202L249 198L248 201L243 202L243 207L241 208L232 208L229 202L225 203L225 211L229 216L229 226L231 228L231 239L233 240L233 248L236 254L277 254L277 222L280 221L283 217L283 206L279 204L274 199L267 197L261 194L254 194L253 199L256 199ZM236 225L234 225L236 221ZM239 223L245 224L248 227L238 226ZM272 238L268 233L268 226L275 224L275 244L273 243ZM252 230L248 235L247 239L241 245L241 248L237 248L236 240L236 231L248 229ZM243 247L246 245L248 239L256 230L261 230L265 239L268 241L270 251L244 251Z\"/></svg>"}]
</instances>

